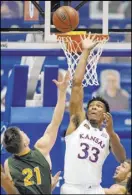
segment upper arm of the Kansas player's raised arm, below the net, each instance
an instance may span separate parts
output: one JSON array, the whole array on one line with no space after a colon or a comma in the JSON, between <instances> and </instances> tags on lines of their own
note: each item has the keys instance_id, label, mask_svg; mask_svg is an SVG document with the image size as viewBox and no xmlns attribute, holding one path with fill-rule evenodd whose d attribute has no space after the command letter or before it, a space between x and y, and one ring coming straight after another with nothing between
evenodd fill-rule
<instances>
[{"instance_id":1,"label":"upper arm of the Kansas player's raised arm, below the net","mask_svg":"<svg viewBox=\"0 0 132 195\"><path fill-rule=\"evenodd\" d=\"M83 87L82 86L73 86L70 98L70 116L75 115L76 113L83 113Z\"/></svg>"}]
</instances>

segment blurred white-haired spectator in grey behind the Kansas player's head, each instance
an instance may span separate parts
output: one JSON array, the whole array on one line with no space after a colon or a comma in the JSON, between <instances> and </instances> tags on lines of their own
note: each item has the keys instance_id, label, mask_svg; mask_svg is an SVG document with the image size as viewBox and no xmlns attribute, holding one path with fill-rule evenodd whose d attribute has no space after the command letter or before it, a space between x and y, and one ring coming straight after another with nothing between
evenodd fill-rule
<instances>
[{"instance_id":1,"label":"blurred white-haired spectator in grey behind the Kansas player's head","mask_svg":"<svg viewBox=\"0 0 132 195\"><path fill-rule=\"evenodd\" d=\"M120 87L120 74L116 70L104 70L101 73L101 86L92 94L102 96L110 105L111 111L127 110L129 94Z\"/></svg>"}]
</instances>

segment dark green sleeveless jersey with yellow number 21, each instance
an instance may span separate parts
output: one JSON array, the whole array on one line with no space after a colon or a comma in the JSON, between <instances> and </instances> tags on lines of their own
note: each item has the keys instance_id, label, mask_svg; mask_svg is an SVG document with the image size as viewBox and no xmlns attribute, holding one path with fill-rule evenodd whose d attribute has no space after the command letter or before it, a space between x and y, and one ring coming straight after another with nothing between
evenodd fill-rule
<instances>
[{"instance_id":1,"label":"dark green sleeveless jersey with yellow number 21","mask_svg":"<svg viewBox=\"0 0 132 195\"><path fill-rule=\"evenodd\" d=\"M10 175L20 194L51 194L50 166L37 150L8 159Z\"/></svg>"}]
</instances>

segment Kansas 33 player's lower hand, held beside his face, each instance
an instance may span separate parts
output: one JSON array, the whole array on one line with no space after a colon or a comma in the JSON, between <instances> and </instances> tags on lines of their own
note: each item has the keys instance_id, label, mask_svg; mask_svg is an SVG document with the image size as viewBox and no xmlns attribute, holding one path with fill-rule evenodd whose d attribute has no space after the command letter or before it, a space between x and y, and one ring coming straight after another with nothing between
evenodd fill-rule
<instances>
[{"instance_id":1,"label":"Kansas 33 player's lower hand, held beside his face","mask_svg":"<svg viewBox=\"0 0 132 195\"><path fill-rule=\"evenodd\" d=\"M112 115L109 112L104 113L104 121L105 121L106 131L109 134L109 136L111 136L112 134L114 134L114 130L113 130Z\"/></svg>"}]
</instances>

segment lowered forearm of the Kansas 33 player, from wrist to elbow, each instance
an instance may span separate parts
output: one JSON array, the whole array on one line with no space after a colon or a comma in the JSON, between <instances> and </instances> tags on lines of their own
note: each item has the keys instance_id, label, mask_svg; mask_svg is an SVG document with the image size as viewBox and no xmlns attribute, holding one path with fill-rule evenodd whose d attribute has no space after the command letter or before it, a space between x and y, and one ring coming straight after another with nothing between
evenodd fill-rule
<instances>
[{"instance_id":1,"label":"lowered forearm of the Kansas 33 player, from wrist to elbow","mask_svg":"<svg viewBox=\"0 0 132 195\"><path fill-rule=\"evenodd\" d=\"M112 146L112 152L114 153L116 159L121 163L126 159L126 152L116 133L110 135L110 142Z\"/></svg>"}]
</instances>

